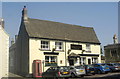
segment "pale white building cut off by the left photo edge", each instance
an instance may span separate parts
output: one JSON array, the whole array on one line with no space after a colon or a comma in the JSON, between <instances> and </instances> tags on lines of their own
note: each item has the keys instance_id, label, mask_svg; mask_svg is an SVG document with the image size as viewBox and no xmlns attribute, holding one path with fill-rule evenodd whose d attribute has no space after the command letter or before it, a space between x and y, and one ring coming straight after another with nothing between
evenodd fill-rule
<instances>
[{"instance_id":1,"label":"pale white building cut off by the left photo edge","mask_svg":"<svg viewBox=\"0 0 120 79\"><path fill-rule=\"evenodd\" d=\"M0 18L0 79L8 77L9 35L4 29L4 20Z\"/></svg>"}]
</instances>

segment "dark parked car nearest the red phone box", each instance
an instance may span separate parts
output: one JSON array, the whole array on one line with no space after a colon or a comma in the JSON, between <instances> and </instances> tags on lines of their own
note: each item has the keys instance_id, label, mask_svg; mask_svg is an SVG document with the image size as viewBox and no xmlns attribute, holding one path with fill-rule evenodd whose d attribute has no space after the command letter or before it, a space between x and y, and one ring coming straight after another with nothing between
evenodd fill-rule
<instances>
[{"instance_id":1,"label":"dark parked car nearest the red phone box","mask_svg":"<svg viewBox=\"0 0 120 79\"><path fill-rule=\"evenodd\" d=\"M57 67L50 67L45 72L42 73L43 79L52 78L52 79L67 79L71 76L69 67L67 66L57 66Z\"/></svg>"}]
</instances>

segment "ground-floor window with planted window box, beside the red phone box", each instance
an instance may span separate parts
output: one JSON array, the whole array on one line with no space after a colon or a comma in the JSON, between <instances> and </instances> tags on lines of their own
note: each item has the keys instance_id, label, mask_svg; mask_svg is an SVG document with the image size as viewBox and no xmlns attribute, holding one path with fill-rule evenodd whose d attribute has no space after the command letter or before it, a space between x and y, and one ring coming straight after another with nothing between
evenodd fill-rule
<instances>
[{"instance_id":1,"label":"ground-floor window with planted window box, beside the red phone box","mask_svg":"<svg viewBox=\"0 0 120 79\"><path fill-rule=\"evenodd\" d=\"M57 56L45 56L45 66L57 66Z\"/></svg>"}]
</instances>

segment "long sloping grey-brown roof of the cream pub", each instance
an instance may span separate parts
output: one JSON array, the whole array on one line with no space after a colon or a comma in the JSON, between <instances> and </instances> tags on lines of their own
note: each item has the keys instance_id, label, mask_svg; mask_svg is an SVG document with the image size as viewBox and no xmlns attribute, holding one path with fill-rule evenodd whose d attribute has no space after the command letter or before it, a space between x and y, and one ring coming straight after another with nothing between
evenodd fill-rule
<instances>
[{"instance_id":1,"label":"long sloping grey-brown roof of the cream pub","mask_svg":"<svg viewBox=\"0 0 120 79\"><path fill-rule=\"evenodd\" d=\"M25 28L29 37L100 44L92 27L29 18L25 23Z\"/></svg>"}]
</instances>

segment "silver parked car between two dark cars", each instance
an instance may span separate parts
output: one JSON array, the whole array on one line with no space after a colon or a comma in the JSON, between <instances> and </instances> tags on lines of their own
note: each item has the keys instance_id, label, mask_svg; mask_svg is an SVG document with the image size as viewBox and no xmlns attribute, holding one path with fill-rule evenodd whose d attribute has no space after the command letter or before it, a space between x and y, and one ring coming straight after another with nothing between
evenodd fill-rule
<instances>
[{"instance_id":1,"label":"silver parked car between two dark cars","mask_svg":"<svg viewBox=\"0 0 120 79\"><path fill-rule=\"evenodd\" d=\"M69 66L71 77L84 77L86 74L84 66Z\"/></svg>"}]
</instances>

